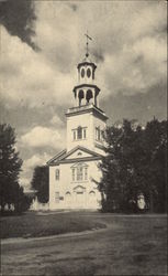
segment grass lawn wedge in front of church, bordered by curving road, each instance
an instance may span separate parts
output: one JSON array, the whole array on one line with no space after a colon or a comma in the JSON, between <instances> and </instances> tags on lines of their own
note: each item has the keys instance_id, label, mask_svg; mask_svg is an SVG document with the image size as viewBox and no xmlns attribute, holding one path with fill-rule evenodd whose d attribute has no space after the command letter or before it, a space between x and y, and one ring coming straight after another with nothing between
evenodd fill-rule
<instances>
[{"instance_id":1,"label":"grass lawn wedge in front of church, bordered by curving road","mask_svg":"<svg viewBox=\"0 0 168 276\"><path fill-rule=\"evenodd\" d=\"M105 226L91 219L79 216L76 212L49 214L27 212L18 216L3 216L0 222L1 238L48 236Z\"/></svg>"}]
</instances>

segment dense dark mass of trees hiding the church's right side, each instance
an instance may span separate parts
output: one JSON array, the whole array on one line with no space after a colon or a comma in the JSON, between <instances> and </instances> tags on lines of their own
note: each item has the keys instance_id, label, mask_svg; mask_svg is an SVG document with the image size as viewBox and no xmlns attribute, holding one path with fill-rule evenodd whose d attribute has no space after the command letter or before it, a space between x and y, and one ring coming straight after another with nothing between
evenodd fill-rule
<instances>
[{"instance_id":1,"label":"dense dark mass of trees hiding the church's right side","mask_svg":"<svg viewBox=\"0 0 168 276\"><path fill-rule=\"evenodd\" d=\"M120 128L107 128L104 138L107 156L100 164L103 176L98 184L102 210L126 211L132 202L135 211L143 193L152 211L166 211L167 123L154 119L142 129L124 120Z\"/></svg>"}]
</instances>

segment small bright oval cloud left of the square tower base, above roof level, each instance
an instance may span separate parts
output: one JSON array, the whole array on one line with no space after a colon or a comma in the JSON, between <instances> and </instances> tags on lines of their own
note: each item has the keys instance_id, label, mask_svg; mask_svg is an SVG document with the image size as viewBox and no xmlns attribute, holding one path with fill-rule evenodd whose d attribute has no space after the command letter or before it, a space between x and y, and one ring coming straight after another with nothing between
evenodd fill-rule
<instances>
[{"instance_id":1,"label":"small bright oval cloud left of the square tower base, above roof level","mask_svg":"<svg viewBox=\"0 0 168 276\"><path fill-rule=\"evenodd\" d=\"M65 144L58 130L41 126L34 127L23 135L21 142L32 148L52 147L54 149L60 149Z\"/></svg>"}]
</instances>

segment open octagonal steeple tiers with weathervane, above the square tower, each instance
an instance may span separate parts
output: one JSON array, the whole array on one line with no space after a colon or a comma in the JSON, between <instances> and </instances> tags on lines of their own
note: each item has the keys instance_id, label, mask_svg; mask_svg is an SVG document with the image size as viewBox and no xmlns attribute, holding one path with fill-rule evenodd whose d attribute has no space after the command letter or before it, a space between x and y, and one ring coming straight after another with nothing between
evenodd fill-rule
<instances>
[{"instance_id":1,"label":"open octagonal steeple tiers with weathervane, above the square tower","mask_svg":"<svg viewBox=\"0 0 168 276\"><path fill-rule=\"evenodd\" d=\"M89 59L89 40L92 40L88 33L86 57L77 66L78 68L78 85L74 87L76 106L93 104L99 107L98 95L99 87L94 84L94 75L97 65Z\"/></svg>"}]
</instances>

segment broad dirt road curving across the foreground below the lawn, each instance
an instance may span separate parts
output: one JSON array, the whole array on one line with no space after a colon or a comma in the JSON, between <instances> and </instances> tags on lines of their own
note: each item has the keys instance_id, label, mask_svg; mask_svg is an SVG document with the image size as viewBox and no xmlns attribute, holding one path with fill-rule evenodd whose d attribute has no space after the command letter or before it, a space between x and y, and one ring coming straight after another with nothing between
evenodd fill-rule
<instances>
[{"instance_id":1,"label":"broad dirt road curving across the foreground below the lawn","mask_svg":"<svg viewBox=\"0 0 168 276\"><path fill-rule=\"evenodd\" d=\"M167 275L166 217L94 219L109 226L2 244L2 275Z\"/></svg>"}]
</instances>

